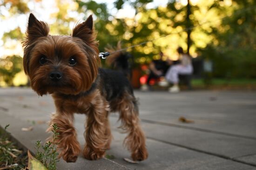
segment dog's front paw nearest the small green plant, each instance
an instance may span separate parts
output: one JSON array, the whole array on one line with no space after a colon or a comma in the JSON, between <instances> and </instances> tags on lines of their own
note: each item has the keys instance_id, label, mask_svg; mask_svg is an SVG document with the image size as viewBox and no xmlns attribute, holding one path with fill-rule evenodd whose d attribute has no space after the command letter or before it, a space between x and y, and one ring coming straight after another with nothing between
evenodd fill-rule
<instances>
[{"instance_id":1,"label":"dog's front paw nearest the small green plant","mask_svg":"<svg viewBox=\"0 0 256 170\"><path fill-rule=\"evenodd\" d=\"M61 151L59 157L62 157L66 162L75 162L79 152L79 146L67 145L67 147Z\"/></svg>"}]
</instances>

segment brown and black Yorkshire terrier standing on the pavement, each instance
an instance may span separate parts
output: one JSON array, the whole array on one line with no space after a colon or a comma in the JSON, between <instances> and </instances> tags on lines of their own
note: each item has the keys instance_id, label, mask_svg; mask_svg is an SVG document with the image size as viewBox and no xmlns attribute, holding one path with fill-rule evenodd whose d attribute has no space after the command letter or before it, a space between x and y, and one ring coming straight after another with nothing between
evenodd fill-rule
<instances>
[{"instance_id":1,"label":"brown and black Yorkshire terrier standing on the pavement","mask_svg":"<svg viewBox=\"0 0 256 170\"><path fill-rule=\"evenodd\" d=\"M146 159L148 151L133 88L124 71L99 67L92 15L77 24L71 36L48 33L47 23L31 13L23 42L23 66L37 94L52 94L56 113L48 131L54 123L59 127L56 143L60 157L75 162L81 151L73 126L74 113L87 115L83 156L89 160L103 157L112 139L108 114L118 111L121 128L128 132L124 144L132 159ZM117 58L115 55L112 61Z\"/></svg>"}]
</instances>

